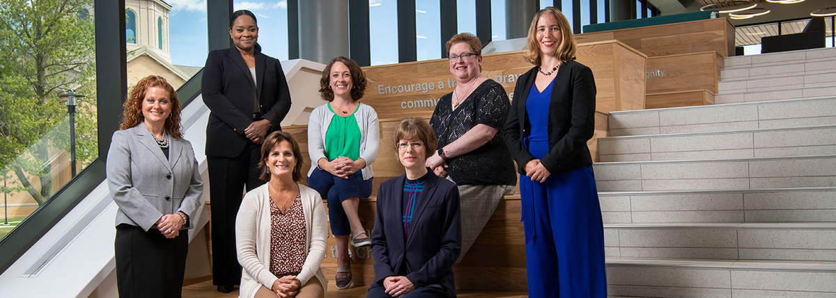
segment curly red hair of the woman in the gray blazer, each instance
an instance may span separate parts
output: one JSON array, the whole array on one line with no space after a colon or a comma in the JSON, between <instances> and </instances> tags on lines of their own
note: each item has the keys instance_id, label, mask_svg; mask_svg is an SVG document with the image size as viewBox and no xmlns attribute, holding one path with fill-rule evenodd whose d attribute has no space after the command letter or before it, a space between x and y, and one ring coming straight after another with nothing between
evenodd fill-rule
<instances>
[{"instance_id":1,"label":"curly red hair of the woman in the gray blazer","mask_svg":"<svg viewBox=\"0 0 836 298\"><path fill-rule=\"evenodd\" d=\"M154 75L143 77L140 82L136 82L136 85L130 89L128 99L122 104L122 124L120 124L119 129L135 127L140 125L140 122L145 121L145 117L142 116L142 101L145 99L145 91L150 87L161 87L168 92L171 114L166 118L166 131L171 134L171 137L178 139L183 137L183 133L180 132L180 100L177 99L177 92L166 81L166 78Z\"/></svg>"}]
</instances>

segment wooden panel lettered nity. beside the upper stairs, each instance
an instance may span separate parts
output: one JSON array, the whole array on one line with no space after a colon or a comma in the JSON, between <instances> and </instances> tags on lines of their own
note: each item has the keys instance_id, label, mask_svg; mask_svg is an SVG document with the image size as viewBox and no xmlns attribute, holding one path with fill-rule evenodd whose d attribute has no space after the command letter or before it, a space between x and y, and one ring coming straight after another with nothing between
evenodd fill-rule
<instances>
[{"instance_id":1,"label":"wooden panel lettered nity. beside the upper stairs","mask_svg":"<svg viewBox=\"0 0 836 298\"><path fill-rule=\"evenodd\" d=\"M717 92L723 57L714 51L647 58L647 93L707 90Z\"/></svg>"}]
</instances>

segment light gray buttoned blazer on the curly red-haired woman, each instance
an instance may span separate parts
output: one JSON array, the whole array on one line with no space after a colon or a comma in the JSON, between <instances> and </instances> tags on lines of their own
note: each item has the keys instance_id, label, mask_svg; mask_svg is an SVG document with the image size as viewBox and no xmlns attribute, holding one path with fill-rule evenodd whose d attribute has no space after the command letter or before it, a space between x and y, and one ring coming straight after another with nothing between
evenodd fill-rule
<instances>
[{"instance_id":1,"label":"light gray buttoned blazer on the curly red-haired woman","mask_svg":"<svg viewBox=\"0 0 836 298\"><path fill-rule=\"evenodd\" d=\"M126 223L150 231L163 215L183 211L191 218L201 206L203 182L195 151L185 139L169 140L166 159L145 123L113 133L107 182L119 206L117 226ZM187 221L181 230L188 228Z\"/></svg>"}]
</instances>

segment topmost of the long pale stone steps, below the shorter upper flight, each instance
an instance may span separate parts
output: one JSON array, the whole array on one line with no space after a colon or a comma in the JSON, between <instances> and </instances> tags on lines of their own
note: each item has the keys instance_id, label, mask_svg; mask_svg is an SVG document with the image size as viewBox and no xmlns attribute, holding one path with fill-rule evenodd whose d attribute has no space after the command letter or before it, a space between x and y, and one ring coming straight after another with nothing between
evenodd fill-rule
<instances>
[{"instance_id":1,"label":"topmost of the long pale stone steps, below the shorter upper flight","mask_svg":"<svg viewBox=\"0 0 836 298\"><path fill-rule=\"evenodd\" d=\"M609 136L836 125L836 97L610 112Z\"/></svg>"}]
</instances>

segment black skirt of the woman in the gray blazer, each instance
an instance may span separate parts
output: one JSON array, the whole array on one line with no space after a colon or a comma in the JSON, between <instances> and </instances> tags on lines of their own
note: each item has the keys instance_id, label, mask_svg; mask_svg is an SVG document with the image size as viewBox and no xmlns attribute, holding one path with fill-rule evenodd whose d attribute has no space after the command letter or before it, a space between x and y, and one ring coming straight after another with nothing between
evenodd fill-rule
<instances>
[{"instance_id":1,"label":"black skirt of the woman in the gray blazer","mask_svg":"<svg viewBox=\"0 0 836 298\"><path fill-rule=\"evenodd\" d=\"M120 298L180 298L189 236L186 230L166 239L156 229L116 226L116 287Z\"/></svg>"}]
</instances>

